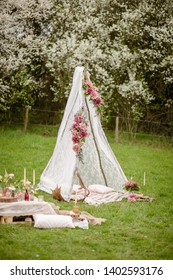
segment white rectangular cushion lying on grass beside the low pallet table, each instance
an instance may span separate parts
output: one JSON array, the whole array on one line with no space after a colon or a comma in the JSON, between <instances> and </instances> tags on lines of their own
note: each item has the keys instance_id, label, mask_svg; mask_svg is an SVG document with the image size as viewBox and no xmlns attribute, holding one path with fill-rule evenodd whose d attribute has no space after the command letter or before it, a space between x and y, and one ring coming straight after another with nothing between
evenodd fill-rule
<instances>
[{"instance_id":1,"label":"white rectangular cushion lying on grass beside the low pallet table","mask_svg":"<svg viewBox=\"0 0 173 280\"><path fill-rule=\"evenodd\" d=\"M35 214L33 218L36 228L75 228L70 216Z\"/></svg>"}]
</instances>

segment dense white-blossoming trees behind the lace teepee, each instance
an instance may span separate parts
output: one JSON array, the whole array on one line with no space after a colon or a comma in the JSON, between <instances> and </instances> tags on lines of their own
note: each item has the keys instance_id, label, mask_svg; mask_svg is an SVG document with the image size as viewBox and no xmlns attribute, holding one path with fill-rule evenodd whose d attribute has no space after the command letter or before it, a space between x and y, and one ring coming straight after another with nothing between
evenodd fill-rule
<instances>
[{"instance_id":1,"label":"dense white-blossoming trees behind the lace teepee","mask_svg":"<svg viewBox=\"0 0 173 280\"><path fill-rule=\"evenodd\" d=\"M43 96L42 106L64 108L75 66L88 63L105 115L171 118L171 7L168 0L0 1L0 109Z\"/></svg>"}]
</instances>

